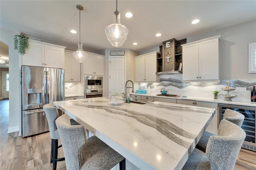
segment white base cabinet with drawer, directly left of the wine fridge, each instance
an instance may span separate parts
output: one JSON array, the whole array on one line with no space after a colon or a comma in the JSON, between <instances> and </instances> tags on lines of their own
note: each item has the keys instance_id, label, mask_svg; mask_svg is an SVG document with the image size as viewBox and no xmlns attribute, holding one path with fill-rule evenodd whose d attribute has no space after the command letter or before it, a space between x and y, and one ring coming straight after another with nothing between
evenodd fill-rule
<instances>
[{"instance_id":1,"label":"white base cabinet with drawer, directly left of the wine fridge","mask_svg":"<svg viewBox=\"0 0 256 170\"><path fill-rule=\"evenodd\" d=\"M192 100L177 100L177 104L182 105L190 105L190 106L199 106L199 107L208 107L215 110L215 115L212 118L212 121L206 128L207 131L212 132L214 134L218 134L218 103L210 103L210 102L203 102L203 101L192 101Z\"/></svg>"}]
</instances>

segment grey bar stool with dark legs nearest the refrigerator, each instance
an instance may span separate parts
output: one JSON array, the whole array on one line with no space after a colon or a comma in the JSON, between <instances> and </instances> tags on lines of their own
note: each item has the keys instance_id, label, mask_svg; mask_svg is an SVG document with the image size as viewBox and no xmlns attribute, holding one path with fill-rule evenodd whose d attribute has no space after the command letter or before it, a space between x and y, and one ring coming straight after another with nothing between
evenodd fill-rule
<instances>
[{"instance_id":1,"label":"grey bar stool with dark legs nearest the refrigerator","mask_svg":"<svg viewBox=\"0 0 256 170\"><path fill-rule=\"evenodd\" d=\"M58 148L62 147L62 145L58 146L58 139L60 139L60 135L58 129L56 127L55 121L58 118L58 109L54 106L53 103L49 103L44 105L44 112L46 114L46 118L49 125L50 136L52 138L52 149L51 149L51 161L52 169L56 170L57 161L63 161L65 158L58 158Z\"/></svg>"}]
</instances>

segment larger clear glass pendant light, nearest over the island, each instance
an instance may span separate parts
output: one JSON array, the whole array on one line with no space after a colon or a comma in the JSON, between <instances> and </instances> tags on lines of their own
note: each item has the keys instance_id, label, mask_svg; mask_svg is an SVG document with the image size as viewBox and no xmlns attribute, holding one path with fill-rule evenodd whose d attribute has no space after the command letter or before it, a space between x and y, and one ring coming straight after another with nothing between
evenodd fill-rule
<instances>
[{"instance_id":1,"label":"larger clear glass pendant light, nearest over the island","mask_svg":"<svg viewBox=\"0 0 256 170\"><path fill-rule=\"evenodd\" d=\"M108 41L114 47L122 46L128 36L128 29L126 26L120 24L120 13L117 10L117 0L116 11L114 11L114 24L110 24L105 28L105 34Z\"/></svg>"}]
</instances>

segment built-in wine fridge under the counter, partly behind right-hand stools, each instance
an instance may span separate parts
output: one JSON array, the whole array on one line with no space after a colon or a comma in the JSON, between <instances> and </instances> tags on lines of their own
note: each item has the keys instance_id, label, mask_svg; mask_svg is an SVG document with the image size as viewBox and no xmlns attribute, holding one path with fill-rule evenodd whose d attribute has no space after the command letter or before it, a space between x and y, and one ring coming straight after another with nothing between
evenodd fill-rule
<instances>
[{"instance_id":1,"label":"built-in wine fridge under the counter, partly behind right-hand stools","mask_svg":"<svg viewBox=\"0 0 256 170\"><path fill-rule=\"evenodd\" d=\"M246 138L242 148L256 151L256 134L255 134L255 113L256 107L240 106L240 105L229 105L229 104L218 104L219 111L219 122L223 119L223 115L226 109L232 109L244 115L244 122L242 129L246 132Z\"/></svg>"}]
</instances>

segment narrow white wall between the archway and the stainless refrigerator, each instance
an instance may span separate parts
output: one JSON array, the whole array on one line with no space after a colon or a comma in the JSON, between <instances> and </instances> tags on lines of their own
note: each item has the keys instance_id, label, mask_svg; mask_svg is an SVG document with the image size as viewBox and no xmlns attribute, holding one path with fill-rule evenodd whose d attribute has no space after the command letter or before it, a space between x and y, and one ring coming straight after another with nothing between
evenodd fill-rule
<instances>
[{"instance_id":1,"label":"narrow white wall between the archway and the stainless refrigerator","mask_svg":"<svg viewBox=\"0 0 256 170\"><path fill-rule=\"evenodd\" d=\"M22 58L14 50L14 35L20 34L5 28L0 28L1 42L9 46L9 74L10 74L10 92L9 92L9 128L8 133L20 130L21 135L21 85L20 72Z\"/></svg>"}]
</instances>

